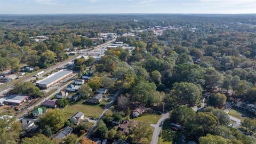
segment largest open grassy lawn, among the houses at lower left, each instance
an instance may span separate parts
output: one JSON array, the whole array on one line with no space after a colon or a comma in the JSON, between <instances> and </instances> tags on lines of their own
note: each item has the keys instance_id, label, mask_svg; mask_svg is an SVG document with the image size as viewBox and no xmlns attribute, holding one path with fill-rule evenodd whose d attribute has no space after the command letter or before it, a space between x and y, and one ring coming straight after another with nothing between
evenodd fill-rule
<instances>
[{"instance_id":1,"label":"largest open grassy lawn, among the houses at lower left","mask_svg":"<svg viewBox=\"0 0 256 144\"><path fill-rule=\"evenodd\" d=\"M95 117L98 118L103 109L99 107L99 105L86 105L83 104L84 101L78 101L75 103L72 103L71 105L63 108L63 112L65 113L65 118L69 119L71 116L73 116L78 111L81 111L84 113L85 117Z\"/></svg>"}]
</instances>

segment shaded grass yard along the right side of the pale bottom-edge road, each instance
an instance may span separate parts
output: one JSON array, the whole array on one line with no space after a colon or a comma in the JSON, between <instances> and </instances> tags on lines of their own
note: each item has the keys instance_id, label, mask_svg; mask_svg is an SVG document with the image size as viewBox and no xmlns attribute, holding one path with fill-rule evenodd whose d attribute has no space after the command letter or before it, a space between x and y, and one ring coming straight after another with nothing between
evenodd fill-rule
<instances>
[{"instance_id":1,"label":"shaded grass yard along the right side of the pale bottom-edge road","mask_svg":"<svg viewBox=\"0 0 256 144\"><path fill-rule=\"evenodd\" d=\"M161 131L161 137L158 139L158 144L170 144L172 143L173 137L175 137L176 132L172 131L172 126L168 121L165 121Z\"/></svg>"}]
</instances>

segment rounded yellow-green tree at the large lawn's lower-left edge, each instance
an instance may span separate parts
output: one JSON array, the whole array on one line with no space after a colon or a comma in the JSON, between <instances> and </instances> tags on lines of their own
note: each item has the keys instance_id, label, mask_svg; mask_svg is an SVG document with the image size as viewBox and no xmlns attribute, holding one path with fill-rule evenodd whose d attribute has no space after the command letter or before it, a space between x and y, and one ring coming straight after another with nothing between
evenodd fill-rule
<instances>
[{"instance_id":1,"label":"rounded yellow-green tree at the large lawn's lower-left edge","mask_svg":"<svg viewBox=\"0 0 256 144\"><path fill-rule=\"evenodd\" d=\"M65 124L65 118L62 111L58 109L49 109L39 118L41 120L40 126L44 129L46 125L51 127L53 132L58 131Z\"/></svg>"}]
</instances>

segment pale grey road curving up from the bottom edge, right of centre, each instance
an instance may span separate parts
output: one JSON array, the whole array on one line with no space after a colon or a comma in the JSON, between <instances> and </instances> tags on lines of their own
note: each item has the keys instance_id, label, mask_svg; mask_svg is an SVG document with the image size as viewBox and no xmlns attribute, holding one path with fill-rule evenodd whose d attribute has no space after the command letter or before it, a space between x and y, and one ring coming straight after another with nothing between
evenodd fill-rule
<instances>
[{"instance_id":1,"label":"pale grey road curving up from the bottom edge, right of centre","mask_svg":"<svg viewBox=\"0 0 256 144\"><path fill-rule=\"evenodd\" d=\"M153 125L154 132L150 144L156 144L158 142L158 135L161 133L163 122L167 118L169 118L169 113L163 114L162 117L158 120L158 122L155 125Z\"/></svg>"}]
</instances>

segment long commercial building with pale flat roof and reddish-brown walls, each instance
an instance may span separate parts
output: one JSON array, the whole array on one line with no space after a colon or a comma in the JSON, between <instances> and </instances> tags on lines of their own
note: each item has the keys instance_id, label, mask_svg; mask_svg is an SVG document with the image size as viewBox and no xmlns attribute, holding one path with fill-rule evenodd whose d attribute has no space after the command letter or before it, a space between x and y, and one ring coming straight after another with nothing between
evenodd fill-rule
<instances>
[{"instance_id":1,"label":"long commercial building with pale flat roof and reddish-brown walls","mask_svg":"<svg viewBox=\"0 0 256 144\"><path fill-rule=\"evenodd\" d=\"M72 74L73 74L72 70L62 69L62 70L58 71L57 73L51 74L51 75L47 76L46 78L42 79L41 81L36 82L36 85L43 89L47 89L47 88L51 87L52 85L59 83L60 81L69 77Z\"/></svg>"}]
</instances>

